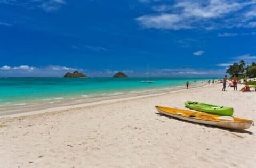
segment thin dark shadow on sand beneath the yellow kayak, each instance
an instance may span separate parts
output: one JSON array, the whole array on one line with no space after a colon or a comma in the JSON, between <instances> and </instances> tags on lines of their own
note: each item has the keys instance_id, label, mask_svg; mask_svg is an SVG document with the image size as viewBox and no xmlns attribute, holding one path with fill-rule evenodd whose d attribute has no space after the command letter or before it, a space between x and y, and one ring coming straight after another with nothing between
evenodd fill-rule
<instances>
[{"instance_id":1,"label":"thin dark shadow on sand beneath the yellow kayak","mask_svg":"<svg viewBox=\"0 0 256 168\"><path fill-rule=\"evenodd\" d=\"M201 124L201 123L196 123L196 122L181 120L181 119L178 119L178 118L175 118L175 117L171 117L171 116L169 116L169 115L165 115L165 114L161 114L161 113L156 113L156 114L157 114L157 115L160 115L160 116L165 116L165 117L167 117L167 118L169 118L169 119L175 119L175 120L179 120L179 121L182 121L182 122L187 122L187 123L191 123L191 124L195 124L195 125L200 125L200 126L204 126L204 127L217 128L217 129L220 129L220 130L226 130L226 131L230 131L230 132L247 133L247 134L253 135L253 132L247 131L247 130L236 130L236 129L222 128L222 127L214 127L213 125L206 125L206 124ZM252 125L252 126L253 126L253 125Z\"/></svg>"}]
</instances>

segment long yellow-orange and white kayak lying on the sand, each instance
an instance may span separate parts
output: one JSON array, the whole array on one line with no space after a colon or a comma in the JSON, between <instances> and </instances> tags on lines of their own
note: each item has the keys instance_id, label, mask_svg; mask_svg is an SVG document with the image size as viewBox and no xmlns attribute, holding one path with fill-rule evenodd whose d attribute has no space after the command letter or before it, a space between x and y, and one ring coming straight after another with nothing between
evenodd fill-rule
<instances>
[{"instance_id":1,"label":"long yellow-orange and white kayak lying on the sand","mask_svg":"<svg viewBox=\"0 0 256 168\"><path fill-rule=\"evenodd\" d=\"M193 112L188 110L181 110L178 108L155 106L159 113L169 115L171 117L206 124L213 125L215 127L223 127L229 129L244 130L251 127L253 121L247 119L241 119L231 116L220 116L214 114L207 114L201 112Z\"/></svg>"}]
</instances>

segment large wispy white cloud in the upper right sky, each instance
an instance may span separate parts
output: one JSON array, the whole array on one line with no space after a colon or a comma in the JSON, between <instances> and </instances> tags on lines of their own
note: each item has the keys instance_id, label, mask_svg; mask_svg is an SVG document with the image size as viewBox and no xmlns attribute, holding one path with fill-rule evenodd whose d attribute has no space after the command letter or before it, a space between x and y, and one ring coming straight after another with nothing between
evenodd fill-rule
<instances>
[{"instance_id":1,"label":"large wispy white cloud in the upper right sky","mask_svg":"<svg viewBox=\"0 0 256 168\"><path fill-rule=\"evenodd\" d=\"M139 16L135 20L145 28L155 29L254 28L255 8L254 0L181 0L174 4L155 5L154 14Z\"/></svg>"}]
</instances>

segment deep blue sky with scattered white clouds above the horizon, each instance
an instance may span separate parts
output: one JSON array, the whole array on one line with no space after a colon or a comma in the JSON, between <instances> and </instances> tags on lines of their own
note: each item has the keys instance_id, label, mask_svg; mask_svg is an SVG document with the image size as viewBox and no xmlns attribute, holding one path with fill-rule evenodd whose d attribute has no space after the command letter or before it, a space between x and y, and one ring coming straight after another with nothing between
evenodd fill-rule
<instances>
[{"instance_id":1,"label":"deep blue sky with scattered white clouds above the horizon","mask_svg":"<svg viewBox=\"0 0 256 168\"><path fill-rule=\"evenodd\" d=\"M256 1L0 0L0 77L222 77L256 62Z\"/></svg>"}]
</instances>

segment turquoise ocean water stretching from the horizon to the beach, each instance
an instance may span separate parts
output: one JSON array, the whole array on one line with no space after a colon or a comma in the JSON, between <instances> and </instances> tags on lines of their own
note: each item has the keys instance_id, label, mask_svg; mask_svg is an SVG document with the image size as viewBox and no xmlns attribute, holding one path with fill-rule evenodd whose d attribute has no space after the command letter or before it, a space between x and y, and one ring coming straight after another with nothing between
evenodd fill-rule
<instances>
[{"instance_id":1,"label":"turquoise ocean water stretching from the horizon to the beach","mask_svg":"<svg viewBox=\"0 0 256 168\"><path fill-rule=\"evenodd\" d=\"M142 83L150 80L154 83ZM203 85L207 78L0 78L0 112L17 106L70 104L161 93ZM203 82L203 83L202 83ZM205 83L204 83L205 84ZM76 102L77 100L77 102ZM73 102L73 103L72 103ZM76 102L76 103L74 103ZM34 106L33 106L34 105ZM14 108L17 107L17 108ZM52 105L53 106L53 105ZM2 108L1 108L2 107ZM35 108L37 109L37 108ZM0 113L1 115L1 113Z\"/></svg>"}]
</instances>

